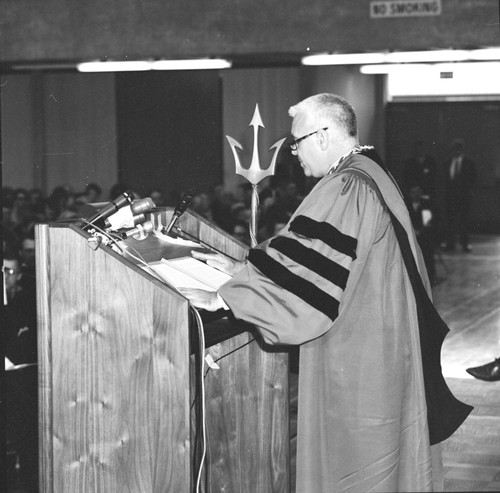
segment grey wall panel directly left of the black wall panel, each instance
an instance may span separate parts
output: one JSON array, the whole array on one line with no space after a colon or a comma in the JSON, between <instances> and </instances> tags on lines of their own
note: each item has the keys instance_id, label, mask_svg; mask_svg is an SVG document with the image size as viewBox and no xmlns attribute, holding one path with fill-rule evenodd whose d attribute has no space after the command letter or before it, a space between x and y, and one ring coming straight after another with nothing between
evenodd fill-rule
<instances>
[{"instance_id":1,"label":"grey wall panel directly left of the black wall panel","mask_svg":"<svg viewBox=\"0 0 500 493\"><path fill-rule=\"evenodd\" d=\"M113 74L49 74L43 79L46 186L116 183L116 115Z\"/></svg>"}]
</instances>

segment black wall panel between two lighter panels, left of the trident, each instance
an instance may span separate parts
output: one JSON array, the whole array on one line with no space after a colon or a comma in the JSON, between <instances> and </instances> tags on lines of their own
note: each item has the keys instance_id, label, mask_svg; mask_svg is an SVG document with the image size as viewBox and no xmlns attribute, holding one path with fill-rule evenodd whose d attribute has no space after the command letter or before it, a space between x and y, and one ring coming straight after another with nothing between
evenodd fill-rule
<instances>
[{"instance_id":1,"label":"black wall panel between two lighter panels, left of the trident","mask_svg":"<svg viewBox=\"0 0 500 493\"><path fill-rule=\"evenodd\" d=\"M141 196L159 187L170 205L222 182L217 72L118 74L116 101L121 182Z\"/></svg>"}]
</instances>

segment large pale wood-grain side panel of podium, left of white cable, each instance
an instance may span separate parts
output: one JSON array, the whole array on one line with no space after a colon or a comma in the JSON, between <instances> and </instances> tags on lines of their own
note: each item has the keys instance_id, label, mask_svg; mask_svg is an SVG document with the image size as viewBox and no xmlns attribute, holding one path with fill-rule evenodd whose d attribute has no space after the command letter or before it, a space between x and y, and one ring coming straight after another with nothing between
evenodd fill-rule
<instances>
[{"instance_id":1,"label":"large pale wood-grain side panel of podium, left of white cable","mask_svg":"<svg viewBox=\"0 0 500 493\"><path fill-rule=\"evenodd\" d=\"M186 491L187 303L117 257L49 228L43 482L61 492Z\"/></svg>"}]
</instances>

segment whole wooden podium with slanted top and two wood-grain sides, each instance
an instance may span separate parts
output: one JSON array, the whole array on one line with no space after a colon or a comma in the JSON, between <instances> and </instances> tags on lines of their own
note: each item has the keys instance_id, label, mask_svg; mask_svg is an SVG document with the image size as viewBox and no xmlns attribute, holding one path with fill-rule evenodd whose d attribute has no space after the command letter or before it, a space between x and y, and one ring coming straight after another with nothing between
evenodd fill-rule
<instances>
[{"instance_id":1,"label":"whole wooden podium with slanted top and two wood-grain sides","mask_svg":"<svg viewBox=\"0 0 500 493\"><path fill-rule=\"evenodd\" d=\"M150 219L161 228L171 215L159 208ZM245 254L189 211L179 225ZM127 240L130 255L89 238L74 223L36 230L40 491L195 491L204 415L199 491L288 492L288 354L225 318L204 324L205 353L219 369L202 367L187 300L136 261L186 252L154 235Z\"/></svg>"}]
</instances>

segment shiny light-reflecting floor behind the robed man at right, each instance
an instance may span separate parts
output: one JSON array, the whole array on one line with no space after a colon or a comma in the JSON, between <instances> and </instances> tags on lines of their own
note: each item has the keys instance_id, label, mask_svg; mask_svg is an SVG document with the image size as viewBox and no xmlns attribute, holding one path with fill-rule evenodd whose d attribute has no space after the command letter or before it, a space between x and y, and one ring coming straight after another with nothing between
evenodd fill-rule
<instances>
[{"instance_id":1,"label":"shiny light-reflecting floor behind the robed man at right","mask_svg":"<svg viewBox=\"0 0 500 493\"><path fill-rule=\"evenodd\" d=\"M500 381L483 382L465 369L500 356L500 237L472 238L473 250L436 255L434 304L450 328L443 375L474 411L443 442L445 491L500 491ZM295 483L297 375L291 374L292 491Z\"/></svg>"}]
</instances>

